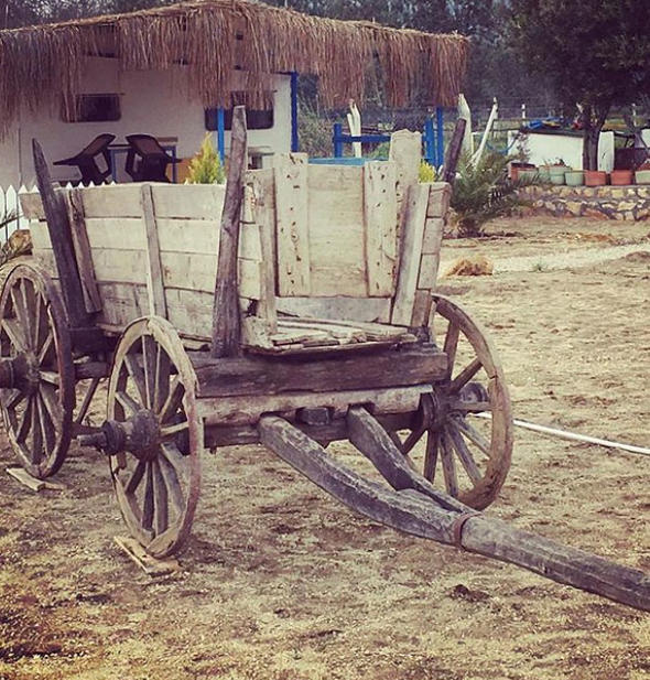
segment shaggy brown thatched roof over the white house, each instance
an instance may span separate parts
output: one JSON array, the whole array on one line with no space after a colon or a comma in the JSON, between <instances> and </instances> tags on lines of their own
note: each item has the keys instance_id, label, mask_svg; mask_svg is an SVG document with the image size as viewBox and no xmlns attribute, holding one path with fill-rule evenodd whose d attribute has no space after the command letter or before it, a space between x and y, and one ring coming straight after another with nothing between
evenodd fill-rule
<instances>
[{"instance_id":1,"label":"shaggy brown thatched roof over the white house","mask_svg":"<svg viewBox=\"0 0 650 680\"><path fill-rule=\"evenodd\" d=\"M251 106L263 106L269 74L290 71L317 75L332 107L362 101L375 72L389 104L403 107L416 93L429 104L454 105L467 47L456 34L322 19L250 0L195 0L0 31L0 127L13 121L20 102L36 109L63 97L72 110L85 55L115 56L123 69L186 64L191 95L206 107L228 107L231 90L241 89ZM243 88L234 69L245 72Z\"/></svg>"}]
</instances>

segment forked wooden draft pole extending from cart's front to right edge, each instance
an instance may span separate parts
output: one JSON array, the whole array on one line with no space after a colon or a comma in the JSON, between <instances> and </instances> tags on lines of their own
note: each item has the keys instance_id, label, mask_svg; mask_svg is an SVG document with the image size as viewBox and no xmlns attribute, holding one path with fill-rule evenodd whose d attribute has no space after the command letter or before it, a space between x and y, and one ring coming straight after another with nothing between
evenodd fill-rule
<instances>
[{"instance_id":1,"label":"forked wooden draft pole extending from cart's front to right edge","mask_svg":"<svg viewBox=\"0 0 650 680\"><path fill-rule=\"evenodd\" d=\"M650 612L650 576L473 510L413 474L388 432L364 407L347 414L350 441L392 488L364 478L277 415L258 424L261 442L321 488L389 527L517 564L542 576Z\"/></svg>"}]
</instances>

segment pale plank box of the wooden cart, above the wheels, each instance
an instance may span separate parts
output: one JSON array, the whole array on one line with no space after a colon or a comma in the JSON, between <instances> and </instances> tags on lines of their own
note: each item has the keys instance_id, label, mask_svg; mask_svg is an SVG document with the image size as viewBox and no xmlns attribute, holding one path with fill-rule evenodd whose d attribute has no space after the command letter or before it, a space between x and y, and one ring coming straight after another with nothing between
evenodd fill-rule
<instances>
[{"instance_id":1,"label":"pale plank box of the wooden cart, above the wheels","mask_svg":"<svg viewBox=\"0 0 650 680\"><path fill-rule=\"evenodd\" d=\"M315 165L293 153L248 171L238 259L245 346L285 354L415 339L409 330L429 320L449 197L445 183L418 183L419 144L404 131L390 161ZM224 186L59 194L99 327L121 333L155 313L188 346L209 341ZM40 195L21 199L34 256L56 278Z\"/></svg>"}]
</instances>

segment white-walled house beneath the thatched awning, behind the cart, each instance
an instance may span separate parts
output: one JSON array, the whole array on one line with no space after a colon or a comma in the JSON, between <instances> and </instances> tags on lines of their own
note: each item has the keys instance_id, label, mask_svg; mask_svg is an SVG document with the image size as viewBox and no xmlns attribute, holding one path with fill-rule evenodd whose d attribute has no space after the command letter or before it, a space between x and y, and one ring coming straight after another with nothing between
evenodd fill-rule
<instances>
[{"instance_id":1,"label":"white-walled house beneath the thatched awning, behind the cart","mask_svg":"<svg viewBox=\"0 0 650 680\"><path fill-rule=\"evenodd\" d=\"M0 140L0 186L33 183L32 138L41 142L48 160L56 161L74 155L98 134L115 134L117 181L129 181L123 171L127 134L151 134L177 158L191 158L198 151L207 128L216 126L206 120L210 116L206 117L201 101L188 95L187 79L185 66L124 71L117 58L87 56L79 90L79 97L90 104L87 115L82 110L80 120L67 121L61 101L44 101L36 111L21 107ZM249 116L250 149L264 155L291 151L292 76L277 74L272 86L273 108L257 118ZM216 116L212 118L216 120ZM212 131L217 147L218 131ZM224 140L227 150L227 129ZM52 172L62 182L79 177L78 170L71 166L55 165Z\"/></svg>"}]
</instances>

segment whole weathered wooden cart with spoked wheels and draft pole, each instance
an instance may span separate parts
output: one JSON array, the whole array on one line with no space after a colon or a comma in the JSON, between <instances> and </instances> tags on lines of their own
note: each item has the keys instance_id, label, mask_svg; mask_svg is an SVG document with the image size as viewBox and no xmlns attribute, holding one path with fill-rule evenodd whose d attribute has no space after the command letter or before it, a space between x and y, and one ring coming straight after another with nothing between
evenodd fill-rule
<instances>
[{"instance_id":1,"label":"whole weathered wooden cart with spoked wheels and draft pole","mask_svg":"<svg viewBox=\"0 0 650 680\"><path fill-rule=\"evenodd\" d=\"M290 154L246 171L235 118L227 187L55 192L35 144L37 265L0 299L0 398L24 468L53 475L74 438L100 449L130 531L164 557L188 536L204 450L261 443L380 522L650 608L642 572L480 512L510 464L510 403L490 341L435 293L451 190L418 183L418 137L362 168ZM336 440L375 475L328 453Z\"/></svg>"}]
</instances>

